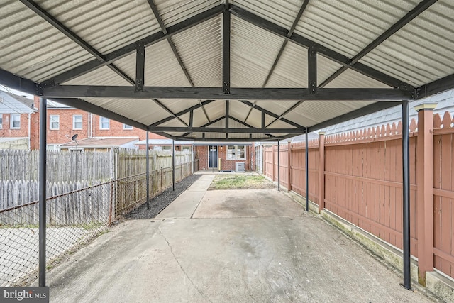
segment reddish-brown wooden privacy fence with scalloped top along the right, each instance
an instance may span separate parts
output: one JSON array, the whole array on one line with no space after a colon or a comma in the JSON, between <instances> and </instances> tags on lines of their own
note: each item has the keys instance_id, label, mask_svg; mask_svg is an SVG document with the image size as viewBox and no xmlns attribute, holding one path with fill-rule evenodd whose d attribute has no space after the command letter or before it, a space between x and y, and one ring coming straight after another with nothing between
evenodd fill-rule
<instances>
[{"instance_id":1,"label":"reddish-brown wooden privacy fence with scalloped top along the right","mask_svg":"<svg viewBox=\"0 0 454 303\"><path fill-rule=\"evenodd\" d=\"M454 121L421 106L410 123L411 254L420 282L454 277ZM263 173L306 195L305 143L264 148ZM323 172L323 173L322 173ZM402 249L402 124L309 142L309 199Z\"/></svg>"}]
</instances>

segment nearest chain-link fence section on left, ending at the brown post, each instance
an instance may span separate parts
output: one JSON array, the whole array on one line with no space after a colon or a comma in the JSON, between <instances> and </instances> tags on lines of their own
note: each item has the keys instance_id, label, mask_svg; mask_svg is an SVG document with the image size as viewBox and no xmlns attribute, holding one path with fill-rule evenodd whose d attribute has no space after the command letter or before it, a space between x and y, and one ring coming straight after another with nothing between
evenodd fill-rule
<instances>
[{"instance_id":1,"label":"nearest chain-link fence section on left, ending at the brown post","mask_svg":"<svg viewBox=\"0 0 454 303\"><path fill-rule=\"evenodd\" d=\"M65 194L46 201L48 268L109 226L112 184L74 183ZM61 186L61 184L60 184ZM0 210L0 285L26 285L38 276L38 201Z\"/></svg>"}]
</instances>

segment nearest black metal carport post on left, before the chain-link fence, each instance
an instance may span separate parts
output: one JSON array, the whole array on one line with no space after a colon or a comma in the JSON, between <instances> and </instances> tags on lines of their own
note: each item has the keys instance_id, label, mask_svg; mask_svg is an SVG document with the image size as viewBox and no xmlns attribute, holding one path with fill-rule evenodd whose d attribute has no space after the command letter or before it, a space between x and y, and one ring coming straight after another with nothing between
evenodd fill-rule
<instances>
[{"instance_id":1,"label":"nearest black metal carport post on left, before the chain-link fence","mask_svg":"<svg viewBox=\"0 0 454 303\"><path fill-rule=\"evenodd\" d=\"M46 116L48 100L40 99L40 162L39 162L39 275L38 286L45 287L45 199L46 199Z\"/></svg>"}]
</instances>

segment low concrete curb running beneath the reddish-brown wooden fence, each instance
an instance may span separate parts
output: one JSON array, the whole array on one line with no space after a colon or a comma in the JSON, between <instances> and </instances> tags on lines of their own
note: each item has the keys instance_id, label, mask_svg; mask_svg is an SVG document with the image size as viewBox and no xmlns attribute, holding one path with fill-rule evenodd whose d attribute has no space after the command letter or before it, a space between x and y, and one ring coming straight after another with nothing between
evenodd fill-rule
<instances>
[{"instance_id":1,"label":"low concrete curb running beneath the reddish-brown wooden fence","mask_svg":"<svg viewBox=\"0 0 454 303\"><path fill-rule=\"evenodd\" d=\"M301 206L306 206L306 199L300 194L297 194L296 192L284 193L294 199L298 204L301 204ZM319 214L319 206L314 202L309 201L309 210L317 214L321 219L324 219L341 229L341 231L347 233L352 238L355 238L362 246L365 246L367 250L370 250L384 260L385 263L392 266L392 268L403 277L402 268L404 267L404 261L402 258L402 250L377 238L362 228L351 224L340 216L333 214L331 211L322 210ZM411 257L411 280L412 286L420 292L431 292L431 294L435 294L436 297L445 302L454 302L454 281L450 279L450 277L445 277L445 275L437 271L427 272L426 287L418 283L417 258L414 258L413 256Z\"/></svg>"}]
</instances>

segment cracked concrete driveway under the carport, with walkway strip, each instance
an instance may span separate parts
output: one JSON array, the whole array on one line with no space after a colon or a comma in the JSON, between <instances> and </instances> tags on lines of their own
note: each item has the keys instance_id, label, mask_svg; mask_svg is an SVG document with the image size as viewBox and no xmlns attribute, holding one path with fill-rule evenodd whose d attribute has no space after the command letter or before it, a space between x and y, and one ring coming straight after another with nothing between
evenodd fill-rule
<instances>
[{"instance_id":1,"label":"cracked concrete driveway under the carport, with walkway strip","mask_svg":"<svg viewBox=\"0 0 454 303\"><path fill-rule=\"evenodd\" d=\"M50 301L432 302L282 192L206 192L212 178L70 255Z\"/></svg>"}]
</instances>

